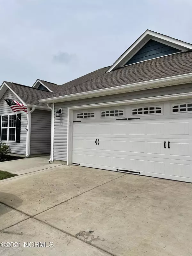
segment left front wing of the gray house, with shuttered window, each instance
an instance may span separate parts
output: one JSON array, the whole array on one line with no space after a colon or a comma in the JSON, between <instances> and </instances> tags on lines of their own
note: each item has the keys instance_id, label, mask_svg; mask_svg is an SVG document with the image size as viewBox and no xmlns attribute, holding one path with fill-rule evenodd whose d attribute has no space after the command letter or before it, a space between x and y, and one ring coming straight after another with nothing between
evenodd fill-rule
<instances>
[{"instance_id":1,"label":"left front wing of the gray house, with shuttered window","mask_svg":"<svg viewBox=\"0 0 192 256\"><path fill-rule=\"evenodd\" d=\"M51 105L39 99L51 97L60 86L37 79L32 87L3 82L0 87L0 141L11 148L12 154L35 156L50 154ZM27 112L13 113L5 100L16 100Z\"/></svg>"}]
</instances>

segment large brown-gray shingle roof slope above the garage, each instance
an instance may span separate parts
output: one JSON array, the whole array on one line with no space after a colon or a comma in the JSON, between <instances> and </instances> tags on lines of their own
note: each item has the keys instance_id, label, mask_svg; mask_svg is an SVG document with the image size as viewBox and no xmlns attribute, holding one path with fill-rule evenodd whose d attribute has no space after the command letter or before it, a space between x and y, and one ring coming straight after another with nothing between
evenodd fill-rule
<instances>
[{"instance_id":1,"label":"large brown-gray shingle roof slope above the garage","mask_svg":"<svg viewBox=\"0 0 192 256\"><path fill-rule=\"evenodd\" d=\"M80 77L63 84L60 91L50 98L192 73L192 52L180 52L134 63L108 73L105 73L106 70L108 67L90 73L93 78L85 81Z\"/></svg>"}]
</instances>

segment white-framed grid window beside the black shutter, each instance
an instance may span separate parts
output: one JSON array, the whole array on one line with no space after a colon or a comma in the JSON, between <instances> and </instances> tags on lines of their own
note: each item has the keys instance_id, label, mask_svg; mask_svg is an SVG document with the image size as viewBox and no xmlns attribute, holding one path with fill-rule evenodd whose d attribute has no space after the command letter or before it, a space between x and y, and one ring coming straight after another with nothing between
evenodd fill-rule
<instances>
[{"instance_id":1,"label":"white-framed grid window beside the black shutter","mask_svg":"<svg viewBox=\"0 0 192 256\"><path fill-rule=\"evenodd\" d=\"M1 116L1 141L15 141L16 115Z\"/></svg>"}]
</instances>

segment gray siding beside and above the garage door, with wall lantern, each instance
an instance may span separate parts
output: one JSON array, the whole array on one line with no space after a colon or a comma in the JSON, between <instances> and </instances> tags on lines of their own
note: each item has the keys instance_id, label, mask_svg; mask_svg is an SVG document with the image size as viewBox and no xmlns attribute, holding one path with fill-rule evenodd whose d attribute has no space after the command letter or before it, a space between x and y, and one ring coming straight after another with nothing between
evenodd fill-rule
<instances>
[{"instance_id":1,"label":"gray siding beside and above the garage door, with wall lantern","mask_svg":"<svg viewBox=\"0 0 192 256\"><path fill-rule=\"evenodd\" d=\"M110 102L110 101L140 99L140 98L170 95L170 94L177 94L177 93L184 93L184 92L192 92L191 83L167 86L167 87L155 88L155 89L149 89L149 90L143 90L143 91L108 95L103 97L89 98L84 100L55 103L54 113L59 108L62 108L63 112L60 117L54 118L54 152L53 152L54 160L63 160L63 161L67 160L67 111L68 111L67 108L68 107L103 103L103 102Z\"/></svg>"}]
</instances>

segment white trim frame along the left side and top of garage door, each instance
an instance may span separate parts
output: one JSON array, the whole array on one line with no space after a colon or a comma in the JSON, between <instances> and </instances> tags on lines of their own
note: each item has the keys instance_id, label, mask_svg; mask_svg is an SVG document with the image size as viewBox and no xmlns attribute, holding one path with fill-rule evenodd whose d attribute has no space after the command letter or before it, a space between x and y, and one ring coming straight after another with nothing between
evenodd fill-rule
<instances>
[{"instance_id":1,"label":"white trim frame along the left side and top of garage door","mask_svg":"<svg viewBox=\"0 0 192 256\"><path fill-rule=\"evenodd\" d=\"M167 100L181 100L181 99L188 99L188 98L192 98L192 92L68 107L67 165L72 164L72 141L73 141L72 136L73 136L73 111L74 110L86 109L86 108L122 106L122 105L131 105L131 104L137 105L140 103L150 103L150 102L167 101Z\"/></svg>"}]
</instances>

